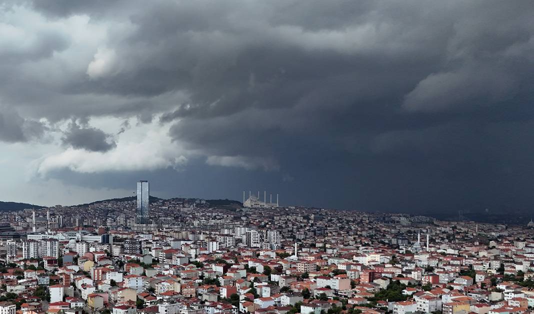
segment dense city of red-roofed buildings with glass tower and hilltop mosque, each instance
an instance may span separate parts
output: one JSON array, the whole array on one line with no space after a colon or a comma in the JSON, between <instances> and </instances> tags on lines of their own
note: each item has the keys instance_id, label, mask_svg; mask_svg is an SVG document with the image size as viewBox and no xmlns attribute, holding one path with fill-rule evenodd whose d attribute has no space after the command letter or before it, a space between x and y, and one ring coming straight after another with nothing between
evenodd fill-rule
<instances>
[{"instance_id":1,"label":"dense city of red-roofed buildings with glass tower and hilltop mosque","mask_svg":"<svg viewBox=\"0 0 534 314\"><path fill-rule=\"evenodd\" d=\"M0 313L514 314L534 222L137 197L2 213Z\"/></svg>"}]
</instances>

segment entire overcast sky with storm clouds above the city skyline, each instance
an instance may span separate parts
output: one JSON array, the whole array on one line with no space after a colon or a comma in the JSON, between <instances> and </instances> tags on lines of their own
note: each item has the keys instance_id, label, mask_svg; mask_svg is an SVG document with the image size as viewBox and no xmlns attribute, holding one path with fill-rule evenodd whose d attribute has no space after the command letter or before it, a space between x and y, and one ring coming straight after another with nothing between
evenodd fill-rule
<instances>
[{"instance_id":1,"label":"entire overcast sky with storm clouds above the city skyline","mask_svg":"<svg viewBox=\"0 0 534 314\"><path fill-rule=\"evenodd\" d=\"M534 207L532 1L0 1L0 200Z\"/></svg>"}]
</instances>

